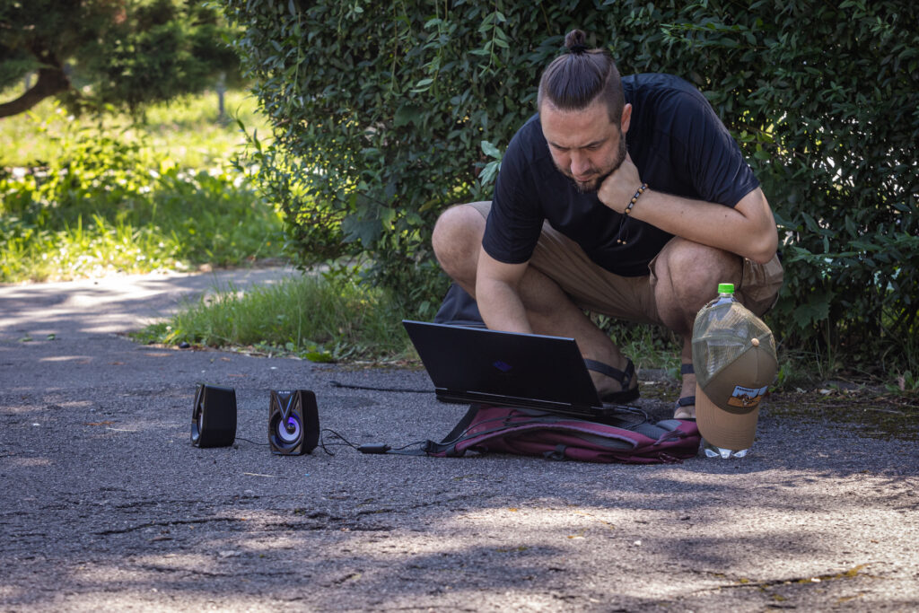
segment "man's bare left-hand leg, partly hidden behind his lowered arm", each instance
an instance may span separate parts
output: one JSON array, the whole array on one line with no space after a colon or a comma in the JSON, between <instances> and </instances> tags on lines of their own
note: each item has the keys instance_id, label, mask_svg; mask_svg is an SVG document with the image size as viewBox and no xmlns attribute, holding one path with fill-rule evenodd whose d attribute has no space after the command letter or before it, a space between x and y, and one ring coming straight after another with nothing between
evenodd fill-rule
<instances>
[{"instance_id":1,"label":"man's bare left-hand leg, partly hidden behind his lowered arm","mask_svg":"<svg viewBox=\"0 0 919 613\"><path fill-rule=\"evenodd\" d=\"M432 236L434 253L440 266L473 297L484 232L485 220L482 214L471 206L458 205L444 211L437 220ZM539 270L528 267L519 291L534 332L573 337L584 358L595 359L615 369L626 369L627 360L618 346L590 321L553 280ZM618 380L595 371L590 374L601 396L622 389ZM630 389L637 385L636 378L630 383Z\"/></svg>"}]
</instances>

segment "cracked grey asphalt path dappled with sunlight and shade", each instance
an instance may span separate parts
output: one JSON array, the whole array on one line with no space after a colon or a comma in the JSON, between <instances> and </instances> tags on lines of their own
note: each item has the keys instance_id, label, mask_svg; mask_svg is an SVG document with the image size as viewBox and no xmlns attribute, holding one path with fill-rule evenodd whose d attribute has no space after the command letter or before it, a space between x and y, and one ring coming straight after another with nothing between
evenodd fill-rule
<instances>
[{"instance_id":1,"label":"cracked grey asphalt path dappled with sunlight and shade","mask_svg":"<svg viewBox=\"0 0 919 613\"><path fill-rule=\"evenodd\" d=\"M465 407L332 383L427 390L423 371L119 334L215 279L0 287L2 610L919 608L916 443L766 406L743 460L275 456L273 389L312 390L323 428L393 447L439 439ZM189 442L201 381L236 390L233 447Z\"/></svg>"}]
</instances>

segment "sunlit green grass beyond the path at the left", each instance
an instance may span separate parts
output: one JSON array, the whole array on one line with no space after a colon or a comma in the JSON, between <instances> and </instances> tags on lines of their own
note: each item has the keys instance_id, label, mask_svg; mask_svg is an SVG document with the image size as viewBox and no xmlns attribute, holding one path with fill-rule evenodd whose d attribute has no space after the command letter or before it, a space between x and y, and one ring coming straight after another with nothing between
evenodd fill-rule
<instances>
[{"instance_id":1,"label":"sunlit green grass beyond the path at the left","mask_svg":"<svg viewBox=\"0 0 919 613\"><path fill-rule=\"evenodd\" d=\"M260 125L241 93L228 108ZM75 119L51 100L0 121L0 281L240 266L283 254L281 213L233 155L244 142L209 96L146 122Z\"/></svg>"}]
</instances>

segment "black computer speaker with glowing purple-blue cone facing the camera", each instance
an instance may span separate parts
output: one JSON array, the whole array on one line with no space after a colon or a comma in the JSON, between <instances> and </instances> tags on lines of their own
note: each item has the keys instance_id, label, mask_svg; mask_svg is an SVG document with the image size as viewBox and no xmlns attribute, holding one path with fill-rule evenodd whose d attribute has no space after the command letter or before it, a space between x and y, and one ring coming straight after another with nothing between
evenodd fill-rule
<instances>
[{"instance_id":1,"label":"black computer speaker with glowing purple-blue cone facing the camera","mask_svg":"<svg viewBox=\"0 0 919 613\"><path fill-rule=\"evenodd\" d=\"M268 442L278 455L310 453L319 442L316 394L309 390L271 392Z\"/></svg>"}]
</instances>

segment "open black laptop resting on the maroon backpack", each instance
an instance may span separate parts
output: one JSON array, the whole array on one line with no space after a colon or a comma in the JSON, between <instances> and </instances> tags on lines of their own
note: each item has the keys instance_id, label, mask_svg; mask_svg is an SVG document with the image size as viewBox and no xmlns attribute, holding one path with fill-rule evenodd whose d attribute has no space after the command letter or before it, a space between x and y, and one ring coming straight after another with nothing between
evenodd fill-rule
<instances>
[{"instance_id":1,"label":"open black laptop resting on the maroon backpack","mask_svg":"<svg viewBox=\"0 0 919 613\"><path fill-rule=\"evenodd\" d=\"M492 403L572 414L612 415L573 338L524 335L403 320L437 400Z\"/></svg>"}]
</instances>

